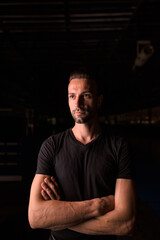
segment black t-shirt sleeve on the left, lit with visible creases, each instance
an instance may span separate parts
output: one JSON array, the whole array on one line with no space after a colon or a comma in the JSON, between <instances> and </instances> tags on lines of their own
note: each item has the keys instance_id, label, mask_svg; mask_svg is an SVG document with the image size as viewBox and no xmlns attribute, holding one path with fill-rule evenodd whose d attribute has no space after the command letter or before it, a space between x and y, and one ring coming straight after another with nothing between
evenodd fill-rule
<instances>
[{"instance_id":1,"label":"black t-shirt sleeve on the left, lit with visible creases","mask_svg":"<svg viewBox=\"0 0 160 240\"><path fill-rule=\"evenodd\" d=\"M37 169L36 174L45 174L52 175L53 174L53 164L54 164L54 154L55 146L53 139L49 137L45 140L38 154L37 159Z\"/></svg>"}]
</instances>

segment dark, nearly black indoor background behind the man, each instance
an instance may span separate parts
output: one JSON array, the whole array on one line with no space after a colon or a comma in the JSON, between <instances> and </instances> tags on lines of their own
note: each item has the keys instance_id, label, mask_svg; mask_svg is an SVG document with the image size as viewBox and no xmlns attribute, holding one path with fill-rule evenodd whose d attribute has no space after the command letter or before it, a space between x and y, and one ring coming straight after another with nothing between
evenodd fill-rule
<instances>
[{"instance_id":1,"label":"dark, nearly black indoor background behind the man","mask_svg":"<svg viewBox=\"0 0 160 240\"><path fill-rule=\"evenodd\" d=\"M139 62L135 60L139 57ZM139 64L138 64L139 63ZM132 145L139 194L135 239L159 239L160 113L156 124L110 116L160 106L160 1L0 1L0 229L45 239L27 220L42 141L73 125L69 73L92 69L105 93L104 124ZM132 121L133 122L133 121ZM138 123L138 124L137 124Z\"/></svg>"}]
</instances>

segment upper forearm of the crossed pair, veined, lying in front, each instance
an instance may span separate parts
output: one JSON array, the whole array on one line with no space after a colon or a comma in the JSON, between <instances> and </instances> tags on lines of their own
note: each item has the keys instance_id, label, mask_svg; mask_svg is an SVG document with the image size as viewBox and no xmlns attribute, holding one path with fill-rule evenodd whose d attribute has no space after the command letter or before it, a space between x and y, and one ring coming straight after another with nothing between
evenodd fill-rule
<instances>
[{"instance_id":1,"label":"upper forearm of the crossed pair, veined, lying in front","mask_svg":"<svg viewBox=\"0 0 160 240\"><path fill-rule=\"evenodd\" d=\"M29 207L29 222L32 228L62 230L98 216L99 209L100 199L81 202L41 200Z\"/></svg>"}]
</instances>

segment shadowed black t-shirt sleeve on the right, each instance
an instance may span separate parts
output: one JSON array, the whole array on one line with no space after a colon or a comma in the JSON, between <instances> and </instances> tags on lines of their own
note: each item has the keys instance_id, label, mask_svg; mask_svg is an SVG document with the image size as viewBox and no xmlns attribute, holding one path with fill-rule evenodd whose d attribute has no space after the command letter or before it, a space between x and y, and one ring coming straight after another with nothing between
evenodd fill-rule
<instances>
[{"instance_id":1,"label":"shadowed black t-shirt sleeve on the right","mask_svg":"<svg viewBox=\"0 0 160 240\"><path fill-rule=\"evenodd\" d=\"M134 164L131 147L124 139L121 139L118 145L117 178L134 179Z\"/></svg>"}]
</instances>

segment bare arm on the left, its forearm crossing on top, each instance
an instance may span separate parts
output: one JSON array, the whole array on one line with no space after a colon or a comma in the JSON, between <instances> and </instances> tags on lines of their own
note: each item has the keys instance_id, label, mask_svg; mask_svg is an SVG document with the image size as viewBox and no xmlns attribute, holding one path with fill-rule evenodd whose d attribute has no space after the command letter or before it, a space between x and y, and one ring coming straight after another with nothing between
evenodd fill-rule
<instances>
[{"instance_id":1,"label":"bare arm on the left, its forearm crossing on top","mask_svg":"<svg viewBox=\"0 0 160 240\"><path fill-rule=\"evenodd\" d=\"M105 214L110 199L96 198L87 201L65 202L44 200L41 183L46 175L36 174L31 186L28 218L32 228L62 230Z\"/></svg>"}]
</instances>

